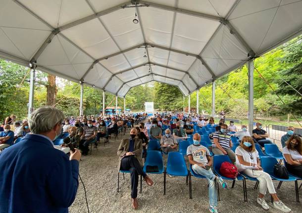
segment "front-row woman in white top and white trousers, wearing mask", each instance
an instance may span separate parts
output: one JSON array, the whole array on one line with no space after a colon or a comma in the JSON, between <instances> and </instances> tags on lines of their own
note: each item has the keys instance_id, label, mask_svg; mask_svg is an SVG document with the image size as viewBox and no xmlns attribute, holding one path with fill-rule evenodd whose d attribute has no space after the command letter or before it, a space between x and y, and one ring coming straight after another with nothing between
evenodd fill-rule
<instances>
[{"instance_id":1,"label":"front-row woman in white top and white trousers, wearing mask","mask_svg":"<svg viewBox=\"0 0 302 213\"><path fill-rule=\"evenodd\" d=\"M286 207L277 197L270 175L262 170L259 155L255 149L252 137L244 136L240 142L240 145L236 148L235 154L238 171L250 177L257 178L259 181L259 196L257 198L257 203L261 205L263 209L269 209L264 200L264 195L268 189L268 192L271 194L274 200L273 207L285 213L291 212L291 209Z\"/></svg>"}]
</instances>

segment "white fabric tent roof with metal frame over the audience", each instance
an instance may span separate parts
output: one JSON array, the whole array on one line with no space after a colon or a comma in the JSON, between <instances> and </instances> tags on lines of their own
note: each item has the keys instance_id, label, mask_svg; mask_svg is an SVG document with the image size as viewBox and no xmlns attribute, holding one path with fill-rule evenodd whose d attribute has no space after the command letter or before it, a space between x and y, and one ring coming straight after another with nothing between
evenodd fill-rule
<instances>
[{"instance_id":1,"label":"white fabric tent roof with metal frame over the audience","mask_svg":"<svg viewBox=\"0 0 302 213\"><path fill-rule=\"evenodd\" d=\"M301 11L302 0L1 0L0 57L120 97L151 81L188 95L300 35Z\"/></svg>"}]
</instances>

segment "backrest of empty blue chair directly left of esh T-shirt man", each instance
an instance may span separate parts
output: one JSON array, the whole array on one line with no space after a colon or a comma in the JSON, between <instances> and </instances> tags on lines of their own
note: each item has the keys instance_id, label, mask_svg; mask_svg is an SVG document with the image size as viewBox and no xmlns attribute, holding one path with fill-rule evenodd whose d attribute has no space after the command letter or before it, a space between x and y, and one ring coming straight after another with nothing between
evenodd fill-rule
<instances>
[{"instance_id":1,"label":"backrest of empty blue chair directly left of esh T-shirt man","mask_svg":"<svg viewBox=\"0 0 302 213\"><path fill-rule=\"evenodd\" d=\"M167 160L167 170L176 169L183 175L188 174L184 156L180 152L169 152Z\"/></svg>"}]
</instances>

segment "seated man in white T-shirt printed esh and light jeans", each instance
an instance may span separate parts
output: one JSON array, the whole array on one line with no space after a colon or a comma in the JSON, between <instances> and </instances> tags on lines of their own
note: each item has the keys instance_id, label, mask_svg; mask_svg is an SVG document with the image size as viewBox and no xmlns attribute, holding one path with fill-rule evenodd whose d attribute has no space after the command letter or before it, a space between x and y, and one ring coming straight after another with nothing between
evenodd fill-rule
<instances>
[{"instance_id":1,"label":"seated man in white T-shirt printed esh and light jeans","mask_svg":"<svg viewBox=\"0 0 302 213\"><path fill-rule=\"evenodd\" d=\"M221 184L222 188L226 188L227 183L211 170L212 160L210 152L205 146L201 145L200 141L200 134L195 133L193 135L193 144L187 148L187 156L192 170L206 177L209 191L209 210L211 213L217 213L216 181Z\"/></svg>"}]
</instances>

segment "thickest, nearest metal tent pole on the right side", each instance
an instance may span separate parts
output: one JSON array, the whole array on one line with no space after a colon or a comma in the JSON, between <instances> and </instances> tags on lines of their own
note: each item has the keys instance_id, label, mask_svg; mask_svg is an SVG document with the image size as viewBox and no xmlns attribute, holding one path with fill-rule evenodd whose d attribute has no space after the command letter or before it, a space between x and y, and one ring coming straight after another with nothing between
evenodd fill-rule
<instances>
[{"instance_id":1,"label":"thickest, nearest metal tent pole on the right side","mask_svg":"<svg viewBox=\"0 0 302 213\"><path fill-rule=\"evenodd\" d=\"M254 82L253 82L253 77L254 77L254 59L249 60L248 62L248 70L249 70L249 131L250 134L252 135L252 129L254 128Z\"/></svg>"}]
</instances>

